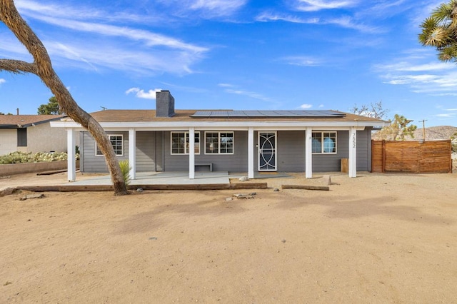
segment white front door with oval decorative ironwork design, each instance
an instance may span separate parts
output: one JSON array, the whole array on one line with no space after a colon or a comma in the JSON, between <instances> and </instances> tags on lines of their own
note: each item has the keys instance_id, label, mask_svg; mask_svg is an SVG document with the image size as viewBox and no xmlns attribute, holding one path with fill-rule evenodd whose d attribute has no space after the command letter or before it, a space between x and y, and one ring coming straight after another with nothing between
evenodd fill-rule
<instances>
[{"instance_id":1,"label":"white front door with oval decorative ironwork design","mask_svg":"<svg viewBox=\"0 0 457 304\"><path fill-rule=\"evenodd\" d=\"M258 132L258 171L276 171L276 132Z\"/></svg>"}]
</instances>

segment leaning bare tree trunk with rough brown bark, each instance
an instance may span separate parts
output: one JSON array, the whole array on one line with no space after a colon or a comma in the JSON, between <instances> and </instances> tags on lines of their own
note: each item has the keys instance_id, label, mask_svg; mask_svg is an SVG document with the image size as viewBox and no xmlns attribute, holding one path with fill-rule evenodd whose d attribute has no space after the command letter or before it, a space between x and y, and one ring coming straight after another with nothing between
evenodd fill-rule
<instances>
[{"instance_id":1,"label":"leaning bare tree trunk with rough brown bark","mask_svg":"<svg viewBox=\"0 0 457 304\"><path fill-rule=\"evenodd\" d=\"M111 181L114 186L115 195L127 194L126 183L121 173L119 162L117 161L114 148L109 141L108 136L100 124L89 113L84 111L74 101L70 92L67 90L64 83L57 76L52 68L51 59L48 52L44 48L39 38L34 31L31 30L26 21L14 6L13 0L0 0L0 20L9 27L26 47L29 53L34 57L34 63L29 64L24 61L16 60L0 60L0 70L10 71L16 74L33 73L41 78L41 81L51 90L56 96L61 109L94 137L100 150L104 153L106 163L111 173Z\"/></svg>"}]
</instances>

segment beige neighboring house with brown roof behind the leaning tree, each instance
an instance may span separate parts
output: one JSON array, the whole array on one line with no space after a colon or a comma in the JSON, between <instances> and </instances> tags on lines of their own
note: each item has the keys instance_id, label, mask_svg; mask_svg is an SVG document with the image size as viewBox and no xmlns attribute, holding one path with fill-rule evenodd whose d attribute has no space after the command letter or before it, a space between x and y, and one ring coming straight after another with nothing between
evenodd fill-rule
<instances>
[{"instance_id":1,"label":"beige neighboring house with brown roof behind the leaning tree","mask_svg":"<svg viewBox=\"0 0 457 304\"><path fill-rule=\"evenodd\" d=\"M0 115L0 155L21 152L66 152L66 131L51 128L64 115Z\"/></svg>"}]
</instances>

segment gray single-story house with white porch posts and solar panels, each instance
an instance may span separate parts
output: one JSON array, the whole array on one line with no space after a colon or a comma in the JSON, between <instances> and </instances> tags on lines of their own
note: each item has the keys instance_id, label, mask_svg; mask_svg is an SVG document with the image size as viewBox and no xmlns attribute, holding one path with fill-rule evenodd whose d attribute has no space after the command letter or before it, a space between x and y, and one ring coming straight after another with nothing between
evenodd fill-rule
<instances>
[{"instance_id":1,"label":"gray single-story house with white porch posts and solar panels","mask_svg":"<svg viewBox=\"0 0 457 304\"><path fill-rule=\"evenodd\" d=\"M339 111L196 111L174 109L169 91L156 93L156 110L91 113L108 133L119 160L127 159L131 178L139 171L305 172L340 171L349 176L371 168L371 130L386 121ZM66 128L68 145L80 139L80 170L108 172L89 132L69 118L51 126ZM194 147L194 148L191 148ZM134 151L134 153L132 153ZM70 156L70 153L69 153ZM69 180L76 177L69 157Z\"/></svg>"}]
</instances>

